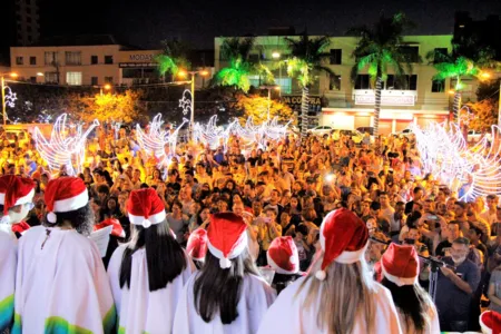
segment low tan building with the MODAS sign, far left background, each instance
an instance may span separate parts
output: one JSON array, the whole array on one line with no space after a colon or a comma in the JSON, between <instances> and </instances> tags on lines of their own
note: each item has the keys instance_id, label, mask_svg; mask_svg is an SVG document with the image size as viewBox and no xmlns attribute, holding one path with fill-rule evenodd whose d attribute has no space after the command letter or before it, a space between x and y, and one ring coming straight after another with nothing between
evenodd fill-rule
<instances>
[{"instance_id":1,"label":"low tan building with the MODAS sign, far left background","mask_svg":"<svg viewBox=\"0 0 501 334\"><path fill-rule=\"evenodd\" d=\"M165 82L155 57L161 50L141 50L118 43L111 36L53 38L39 45L12 47L11 70L19 80L68 86L132 86ZM213 73L212 68L207 68ZM43 76L37 75L42 73ZM197 78L196 87L205 81Z\"/></svg>"}]
</instances>

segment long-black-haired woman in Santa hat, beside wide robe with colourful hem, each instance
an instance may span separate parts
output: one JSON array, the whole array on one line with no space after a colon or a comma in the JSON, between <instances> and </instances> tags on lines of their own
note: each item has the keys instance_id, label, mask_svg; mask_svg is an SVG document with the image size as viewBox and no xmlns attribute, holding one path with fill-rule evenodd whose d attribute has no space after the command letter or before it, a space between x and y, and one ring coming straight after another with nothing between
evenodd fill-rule
<instances>
[{"instance_id":1,"label":"long-black-haired woman in Santa hat, beside wide robe with colourful hem","mask_svg":"<svg viewBox=\"0 0 501 334\"><path fill-rule=\"evenodd\" d=\"M119 332L171 333L178 298L195 266L170 233L153 188L132 190L127 212L131 239L115 250L108 267Z\"/></svg>"}]
</instances>

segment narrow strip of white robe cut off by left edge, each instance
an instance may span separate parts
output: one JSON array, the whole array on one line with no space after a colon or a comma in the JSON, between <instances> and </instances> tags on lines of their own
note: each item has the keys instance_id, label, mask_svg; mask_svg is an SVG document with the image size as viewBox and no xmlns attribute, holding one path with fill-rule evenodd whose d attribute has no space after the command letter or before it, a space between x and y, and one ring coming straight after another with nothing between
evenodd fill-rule
<instances>
[{"instance_id":1,"label":"narrow strip of white robe cut off by left edge","mask_svg":"<svg viewBox=\"0 0 501 334\"><path fill-rule=\"evenodd\" d=\"M10 225L9 225L10 226ZM17 242L0 230L0 333L12 326L17 265Z\"/></svg>"}]
</instances>

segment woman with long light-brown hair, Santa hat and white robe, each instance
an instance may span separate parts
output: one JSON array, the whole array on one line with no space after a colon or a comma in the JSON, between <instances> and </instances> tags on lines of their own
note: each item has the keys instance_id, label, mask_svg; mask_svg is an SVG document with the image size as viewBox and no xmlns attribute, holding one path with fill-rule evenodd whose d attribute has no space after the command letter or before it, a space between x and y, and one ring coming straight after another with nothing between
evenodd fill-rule
<instances>
[{"instance_id":1,"label":"woman with long light-brown hair, Santa hat and white robe","mask_svg":"<svg viewBox=\"0 0 501 334\"><path fill-rule=\"evenodd\" d=\"M390 292L367 269L367 239L354 213L327 214L307 276L281 293L257 333L402 333Z\"/></svg>"}]
</instances>

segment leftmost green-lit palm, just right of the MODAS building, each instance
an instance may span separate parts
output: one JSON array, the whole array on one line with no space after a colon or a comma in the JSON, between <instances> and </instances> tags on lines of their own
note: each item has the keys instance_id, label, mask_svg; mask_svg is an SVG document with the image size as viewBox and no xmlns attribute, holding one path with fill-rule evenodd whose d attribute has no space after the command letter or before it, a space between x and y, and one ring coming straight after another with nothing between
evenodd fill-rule
<instances>
[{"instance_id":1,"label":"leftmost green-lit palm, just right of the MODAS building","mask_svg":"<svg viewBox=\"0 0 501 334\"><path fill-rule=\"evenodd\" d=\"M188 70L191 67L187 58L189 48L186 43L177 39L166 40L161 43L164 45L164 50L155 58L158 62L160 76L170 73L174 78L180 69Z\"/></svg>"}]
</instances>

